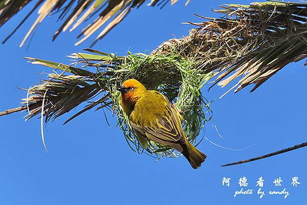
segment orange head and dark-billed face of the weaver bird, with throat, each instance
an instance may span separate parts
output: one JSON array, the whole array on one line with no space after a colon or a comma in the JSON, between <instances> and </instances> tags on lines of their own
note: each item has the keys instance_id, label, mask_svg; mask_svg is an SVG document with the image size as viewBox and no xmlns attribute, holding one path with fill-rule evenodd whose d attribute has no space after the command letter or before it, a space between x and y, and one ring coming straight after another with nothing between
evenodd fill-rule
<instances>
[{"instance_id":1,"label":"orange head and dark-billed face of the weaver bird, with throat","mask_svg":"<svg viewBox=\"0 0 307 205\"><path fill-rule=\"evenodd\" d=\"M136 79L129 79L117 88L121 92L121 104L127 115L133 111L137 101L146 92L146 87Z\"/></svg>"}]
</instances>

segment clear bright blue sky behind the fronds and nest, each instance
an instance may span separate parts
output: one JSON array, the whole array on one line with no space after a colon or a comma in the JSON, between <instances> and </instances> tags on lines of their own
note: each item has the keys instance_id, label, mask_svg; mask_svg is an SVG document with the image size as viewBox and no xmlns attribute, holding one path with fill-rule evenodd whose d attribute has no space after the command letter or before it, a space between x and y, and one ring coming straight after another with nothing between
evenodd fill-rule
<instances>
[{"instance_id":1,"label":"clear bright blue sky behind the fronds and nest","mask_svg":"<svg viewBox=\"0 0 307 205\"><path fill-rule=\"evenodd\" d=\"M94 49L120 55L127 51L144 52L155 49L161 42L188 34L191 26L181 22L200 19L193 15L218 16L211 9L220 4L249 1L191 1L184 7L181 0L174 6L150 8L142 6L130 15ZM33 5L33 3L31 4ZM29 11L27 7L9 24L1 28L8 34ZM87 41L74 47L78 32L62 33L55 42L52 34L59 27L57 16L48 17L36 30L29 46L18 48L36 16L5 45L0 45L3 58L0 81L0 110L16 107L26 93L16 87L28 88L39 82L43 66L31 65L23 57L37 57L69 63L65 57L82 48ZM80 31L80 30L79 30ZM94 36L93 36L94 37ZM303 62L292 63L277 73L254 93L248 87L237 94L218 99L226 89L213 88L203 94L212 103L214 124L224 139L206 125L205 134L214 143L241 149L232 151L204 140L199 149L208 155L198 170L193 170L181 158L162 158L158 163L147 155L134 153L127 146L118 128L109 128L102 111L89 111L65 126L62 123L74 112L47 125L45 138L49 153L42 146L39 119L24 122L24 113L0 118L0 204L304 204L307 185L306 148L248 164L220 165L266 154L306 141L307 110L305 108L306 67ZM80 109L80 108L78 108ZM78 110L77 109L77 110ZM110 123L116 124L109 116ZM230 177L230 187L222 186L222 178ZM239 190L238 179L247 177L248 187L254 189L257 179L265 179L266 195L233 197ZM298 176L300 185L291 186ZM281 177L281 187L273 180ZM290 192L283 196L269 195L270 190Z\"/></svg>"}]
</instances>

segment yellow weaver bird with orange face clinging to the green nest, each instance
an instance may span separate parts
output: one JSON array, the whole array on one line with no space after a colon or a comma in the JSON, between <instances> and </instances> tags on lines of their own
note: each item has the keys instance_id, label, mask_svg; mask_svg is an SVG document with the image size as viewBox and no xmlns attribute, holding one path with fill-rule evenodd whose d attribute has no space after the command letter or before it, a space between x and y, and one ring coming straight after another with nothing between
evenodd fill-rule
<instances>
[{"instance_id":1,"label":"yellow weaver bird with orange face clinging to the green nest","mask_svg":"<svg viewBox=\"0 0 307 205\"><path fill-rule=\"evenodd\" d=\"M144 149L150 140L178 150L194 169L201 166L207 156L186 139L181 126L183 117L176 105L158 91L147 90L135 79L126 80L117 90L121 92L121 105L129 123Z\"/></svg>"}]
</instances>

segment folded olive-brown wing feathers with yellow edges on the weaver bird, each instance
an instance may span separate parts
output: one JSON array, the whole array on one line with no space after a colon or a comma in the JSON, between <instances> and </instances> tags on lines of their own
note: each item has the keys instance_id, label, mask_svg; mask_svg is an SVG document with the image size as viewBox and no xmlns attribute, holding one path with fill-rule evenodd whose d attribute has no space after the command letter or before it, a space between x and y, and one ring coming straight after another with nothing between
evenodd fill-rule
<instances>
[{"instance_id":1,"label":"folded olive-brown wing feathers with yellow edges on the weaver bird","mask_svg":"<svg viewBox=\"0 0 307 205\"><path fill-rule=\"evenodd\" d=\"M142 125L130 120L130 125L138 134L141 134L148 140L161 145L180 149L177 146L174 147L174 143L181 141L184 138L181 119L176 108L174 108L168 100L164 115L156 117L152 121L153 122L151 122L150 125Z\"/></svg>"}]
</instances>

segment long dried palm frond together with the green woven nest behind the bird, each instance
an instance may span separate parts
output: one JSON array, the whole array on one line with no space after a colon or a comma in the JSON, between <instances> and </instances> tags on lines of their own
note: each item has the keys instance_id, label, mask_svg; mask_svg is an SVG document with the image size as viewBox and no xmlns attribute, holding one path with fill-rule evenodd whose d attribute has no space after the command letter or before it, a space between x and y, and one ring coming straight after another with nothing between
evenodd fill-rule
<instances>
[{"instance_id":1,"label":"long dried palm frond together with the green woven nest behind the bird","mask_svg":"<svg viewBox=\"0 0 307 205\"><path fill-rule=\"evenodd\" d=\"M118 57L99 51L75 53L71 66L51 61L28 58L61 70L52 74L43 84L28 90L24 103L29 107L28 118L44 111L46 121L57 118L81 102L102 96L87 105L72 118L94 106L106 107L116 112L118 123L131 148L142 152L130 132L128 120L115 90L128 78L136 78L149 89L158 89L183 110L184 130L188 140L195 144L196 137L210 120L210 103L200 89L209 79L222 87L237 82L235 92L250 84L255 90L287 64L301 60L307 54L307 3L266 2L252 5L224 5L222 18L205 18L190 35L170 39L149 55L128 53ZM192 23L190 23L192 24ZM78 67L77 67L78 66ZM64 72L73 75L64 75ZM240 80L237 78L242 77ZM211 86L213 86L211 85ZM231 88L231 89L232 89ZM103 94L101 94L103 93ZM42 95L44 94L44 95ZM45 96L45 98L44 98ZM46 104L42 101L46 100ZM26 106L11 112L26 110ZM7 110L1 115L10 113ZM72 119L71 118L71 119ZM71 120L69 119L69 120ZM177 156L177 152L151 143L149 154Z\"/></svg>"}]
</instances>

